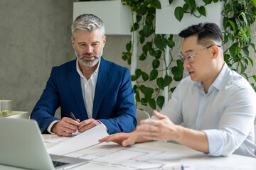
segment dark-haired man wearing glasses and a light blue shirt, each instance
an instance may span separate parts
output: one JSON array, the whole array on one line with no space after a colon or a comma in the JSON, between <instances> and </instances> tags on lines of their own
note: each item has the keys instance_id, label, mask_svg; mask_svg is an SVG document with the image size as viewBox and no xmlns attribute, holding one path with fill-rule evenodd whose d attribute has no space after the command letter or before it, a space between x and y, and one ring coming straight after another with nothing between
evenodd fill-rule
<instances>
[{"instance_id":1,"label":"dark-haired man wearing glasses and a light blue shirt","mask_svg":"<svg viewBox=\"0 0 256 170\"><path fill-rule=\"evenodd\" d=\"M224 62L220 28L200 23L179 36L184 38L180 58L189 77L178 84L162 111L142 120L137 130L110 135L100 142L128 146L174 140L212 156L255 157L255 91Z\"/></svg>"}]
</instances>

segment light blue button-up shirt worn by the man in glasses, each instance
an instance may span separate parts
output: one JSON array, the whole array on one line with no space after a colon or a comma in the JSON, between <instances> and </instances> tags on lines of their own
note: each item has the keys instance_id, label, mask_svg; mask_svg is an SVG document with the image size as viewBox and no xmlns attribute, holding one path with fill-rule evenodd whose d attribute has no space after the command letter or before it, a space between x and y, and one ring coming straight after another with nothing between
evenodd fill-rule
<instances>
[{"instance_id":1,"label":"light blue button-up shirt worn by the man in glasses","mask_svg":"<svg viewBox=\"0 0 256 170\"><path fill-rule=\"evenodd\" d=\"M161 113L175 124L205 132L212 156L234 153L255 157L256 94L226 63L208 94L202 82L186 77Z\"/></svg>"}]
</instances>

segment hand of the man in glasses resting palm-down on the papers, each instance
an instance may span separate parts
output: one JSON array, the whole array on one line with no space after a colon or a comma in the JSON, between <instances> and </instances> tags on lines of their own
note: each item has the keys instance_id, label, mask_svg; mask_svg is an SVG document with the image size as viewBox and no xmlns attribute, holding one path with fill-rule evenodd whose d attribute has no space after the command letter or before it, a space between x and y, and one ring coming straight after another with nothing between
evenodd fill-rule
<instances>
[{"instance_id":1,"label":"hand of the man in glasses resting palm-down on the papers","mask_svg":"<svg viewBox=\"0 0 256 170\"><path fill-rule=\"evenodd\" d=\"M122 145L123 147L127 147L130 145L134 145L135 142L138 142L137 140L138 134L137 131L135 130L134 132L130 133L120 132L113 135L109 135L99 140L99 142L115 142L119 145Z\"/></svg>"}]
</instances>

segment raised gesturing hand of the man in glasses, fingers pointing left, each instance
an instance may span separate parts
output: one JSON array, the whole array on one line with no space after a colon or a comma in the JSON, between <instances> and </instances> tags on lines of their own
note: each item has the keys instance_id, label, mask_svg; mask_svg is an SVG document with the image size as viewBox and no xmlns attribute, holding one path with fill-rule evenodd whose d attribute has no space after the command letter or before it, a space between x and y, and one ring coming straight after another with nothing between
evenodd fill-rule
<instances>
[{"instance_id":1,"label":"raised gesturing hand of the man in glasses, fingers pointing left","mask_svg":"<svg viewBox=\"0 0 256 170\"><path fill-rule=\"evenodd\" d=\"M159 120L142 120L137 127L139 135L147 140L177 140L178 126L166 116L154 111Z\"/></svg>"}]
</instances>

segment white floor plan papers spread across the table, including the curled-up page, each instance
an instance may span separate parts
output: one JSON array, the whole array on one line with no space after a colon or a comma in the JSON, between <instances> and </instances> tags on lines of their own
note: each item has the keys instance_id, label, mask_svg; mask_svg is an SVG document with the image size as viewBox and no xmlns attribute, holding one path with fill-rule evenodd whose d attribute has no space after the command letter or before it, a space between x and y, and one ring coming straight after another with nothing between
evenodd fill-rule
<instances>
[{"instance_id":1,"label":"white floor plan papers spread across the table, including the curled-up page","mask_svg":"<svg viewBox=\"0 0 256 170\"><path fill-rule=\"evenodd\" d=\"M174 147L156 147L135 144L122 147L114 142L100 143L99 139L108 134L103 125L76 135L59 145L48 149L50 154L79 157L96 164L106 164L126 169L219 169L238 170L247 166L208 162L208 156L195 150L180 150Z\"/></svg>"}]
</instances>

